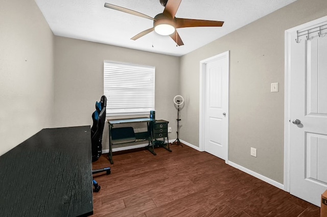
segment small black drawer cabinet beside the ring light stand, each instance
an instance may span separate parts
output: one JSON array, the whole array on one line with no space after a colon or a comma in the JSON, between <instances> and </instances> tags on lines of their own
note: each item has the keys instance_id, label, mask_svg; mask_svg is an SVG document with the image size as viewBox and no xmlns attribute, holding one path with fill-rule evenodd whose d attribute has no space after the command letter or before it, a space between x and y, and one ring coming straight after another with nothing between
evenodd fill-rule
<instances>
[{"instance_id":1,"label":"small black drawer cabinet beside the ring light stand","mask_svg":"<svg viewBox=\"0 0 327 217\"><path fill-rule=\"evenodd\" d=\"M168 151L170 150L169 147L169 139L168 139L168 123L169 121L165 120L155 120L151 125L152 127L152 139L154 146L156 147L164 147ZM165 139L167 138L167 142L165 142ZM159 139L164 139L159 140Z\"/></svg>"}]
</instances>

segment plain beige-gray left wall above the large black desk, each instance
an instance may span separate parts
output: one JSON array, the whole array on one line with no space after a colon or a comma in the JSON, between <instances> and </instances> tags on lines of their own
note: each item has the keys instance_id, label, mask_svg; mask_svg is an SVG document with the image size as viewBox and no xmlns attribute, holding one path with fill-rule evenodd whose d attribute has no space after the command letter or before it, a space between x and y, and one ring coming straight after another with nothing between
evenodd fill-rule
<instances>
[{"instance_id":1,"label":"plain beige-gray left wall above the large black desk","mask_svg":"<svg viewBox=\"0 0 327 217\"><path fill-rule=\"evenodd\" d=\"M53 37L33 0L1 1L0 155L52 126Z\"/></svg>"}]
</instances>

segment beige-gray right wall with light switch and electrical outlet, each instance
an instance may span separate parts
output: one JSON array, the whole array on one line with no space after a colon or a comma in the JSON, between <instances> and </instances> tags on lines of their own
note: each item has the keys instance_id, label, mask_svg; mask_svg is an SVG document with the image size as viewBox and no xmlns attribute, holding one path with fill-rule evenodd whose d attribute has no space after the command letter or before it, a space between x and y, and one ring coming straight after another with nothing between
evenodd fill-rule
<instances>
[{"instance_id":1,"label":"beige-gray right wall with light switch and electrical outlet","mask_svg":"<svg viewBox=\"0 0 327 217\"><path fill-rule=\"evenodd\" d=\"M183 56L181 139L199 146L199 61L230 50L229 160L283 183L285 30L326 15L327 1L298 0Z\"/></svg>"}]
</instances>

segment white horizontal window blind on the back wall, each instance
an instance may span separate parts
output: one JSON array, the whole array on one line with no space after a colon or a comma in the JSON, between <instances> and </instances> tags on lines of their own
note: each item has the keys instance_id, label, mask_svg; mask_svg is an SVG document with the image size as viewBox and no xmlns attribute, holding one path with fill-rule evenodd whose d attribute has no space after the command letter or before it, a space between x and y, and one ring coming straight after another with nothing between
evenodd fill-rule
<instances>
[{"instance_id":1,"label":"white horizontal window blind on the back wall","mask_svg":"<svg viewBox=\"0 0 327 217\"><path fill-rule=\"evenodd\" d=\"M154 110L155 67L104 61L107 116L150 114Z\"/></svg>"}]
</instances>

